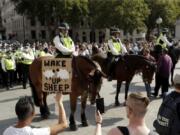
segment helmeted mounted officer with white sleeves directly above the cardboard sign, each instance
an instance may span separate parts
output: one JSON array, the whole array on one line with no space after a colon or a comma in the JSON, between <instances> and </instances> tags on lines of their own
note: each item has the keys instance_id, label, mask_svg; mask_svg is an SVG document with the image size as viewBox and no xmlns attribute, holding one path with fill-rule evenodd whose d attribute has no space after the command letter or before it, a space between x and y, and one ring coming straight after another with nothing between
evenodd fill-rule
<instances>
[{"instance_id":1,"label":"helmeted mounted officer with white sleeves directly above the cardboard sign","mask_svg":"<svg viewBox=\"0 0 180 135\"><path fill-rule=\"evenodd\" d=\"M56 57L70 58L75 52L75 46L73 40L68 35L69 25L67 23L61 23L58 29L60 33L53 40L57 52Z\"/></svg>"}]
</instances>

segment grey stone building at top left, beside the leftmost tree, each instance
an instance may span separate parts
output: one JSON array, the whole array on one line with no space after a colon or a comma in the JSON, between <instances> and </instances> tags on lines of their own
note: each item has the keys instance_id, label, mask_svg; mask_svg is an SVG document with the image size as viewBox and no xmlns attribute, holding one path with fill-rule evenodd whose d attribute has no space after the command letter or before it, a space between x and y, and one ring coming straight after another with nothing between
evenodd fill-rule
<instances>
[{"instance_id":1,"label":"grey stone building at top left, beside the leftmost tree","mask_svg":"<svg viewBox=\"0 0 180 135\"><path fill-rule=\"evenodd\" d=\"M28 19L15 11L11 0L1 0L2 25L5 28L6 39L13 40L49 40L45 22Z\"/></svg>"}]
</instances>

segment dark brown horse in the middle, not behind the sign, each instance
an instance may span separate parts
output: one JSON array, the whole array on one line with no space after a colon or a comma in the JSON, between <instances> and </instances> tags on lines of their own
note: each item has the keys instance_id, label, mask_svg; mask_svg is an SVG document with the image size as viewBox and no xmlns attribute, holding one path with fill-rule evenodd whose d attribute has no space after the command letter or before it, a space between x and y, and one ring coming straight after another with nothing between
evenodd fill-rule
<instances>
[{"instance_id":1,"label":"dark brown horse in the middle, not behind the sign","mask_svg":"<svg viewBox=\"0 0 180 135\"><path fill-rule=\"evenodd\" d=\"M94 49L96 50L96 49ZM96 50L96 52L98 52ZM92 60L98 62L102 68L102 71L108 75L108 58L105 53L97 53L92 56ZM133 76L141 71L143 78L146 79L149 83L152 82L153 75L155 72L155 65L151 63L148 59L139 55L125 55L120 56L119 60L116 62L114 67L114 80L117 80L117 90L115 96L115 105L120 105L119 103L119 93L121 84L123 81L125 84L125 100L127 99L128 90L130 82Z\"/></svg>"}]
</instances>

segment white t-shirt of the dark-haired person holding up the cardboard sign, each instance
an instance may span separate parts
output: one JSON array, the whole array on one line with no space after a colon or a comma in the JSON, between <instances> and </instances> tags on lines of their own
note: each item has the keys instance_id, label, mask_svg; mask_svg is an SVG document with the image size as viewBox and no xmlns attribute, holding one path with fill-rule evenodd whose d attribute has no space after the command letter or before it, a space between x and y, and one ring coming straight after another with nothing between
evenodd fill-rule
<instances>
[{"instance_id":1,"label":"white t-shirt of the dark-haired person holding up the cardboard sign","mask_svg":"<svg viewBox=\"0 0 180 135\"><path fill-rule=\"evenodd\" d=\"M23 128L8 127L3 135L50 135L50 128L31 128L29 126Z\"/></svg>"}]
</instances>

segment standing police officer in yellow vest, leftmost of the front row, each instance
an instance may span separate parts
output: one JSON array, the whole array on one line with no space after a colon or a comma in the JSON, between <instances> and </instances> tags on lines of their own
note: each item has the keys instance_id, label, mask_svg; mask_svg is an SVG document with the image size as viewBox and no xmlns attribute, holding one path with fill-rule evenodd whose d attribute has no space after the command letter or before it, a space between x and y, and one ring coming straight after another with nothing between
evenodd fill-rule
<instances>
[{"instance_id":1,"label":"standing police officer in yellow vest, leftmost of the front row","mask_svg":"<svg viewBox=\"0 0 180 135\"><path fill-rule=\"evenodd\" d=\"M9 90L10 87L13 87L14 71L16 69L15 60L10 48L6 53L6 56L2 58L1 65L5 73L5 86L7 90Z\"/></svg>"}]
</instances>

